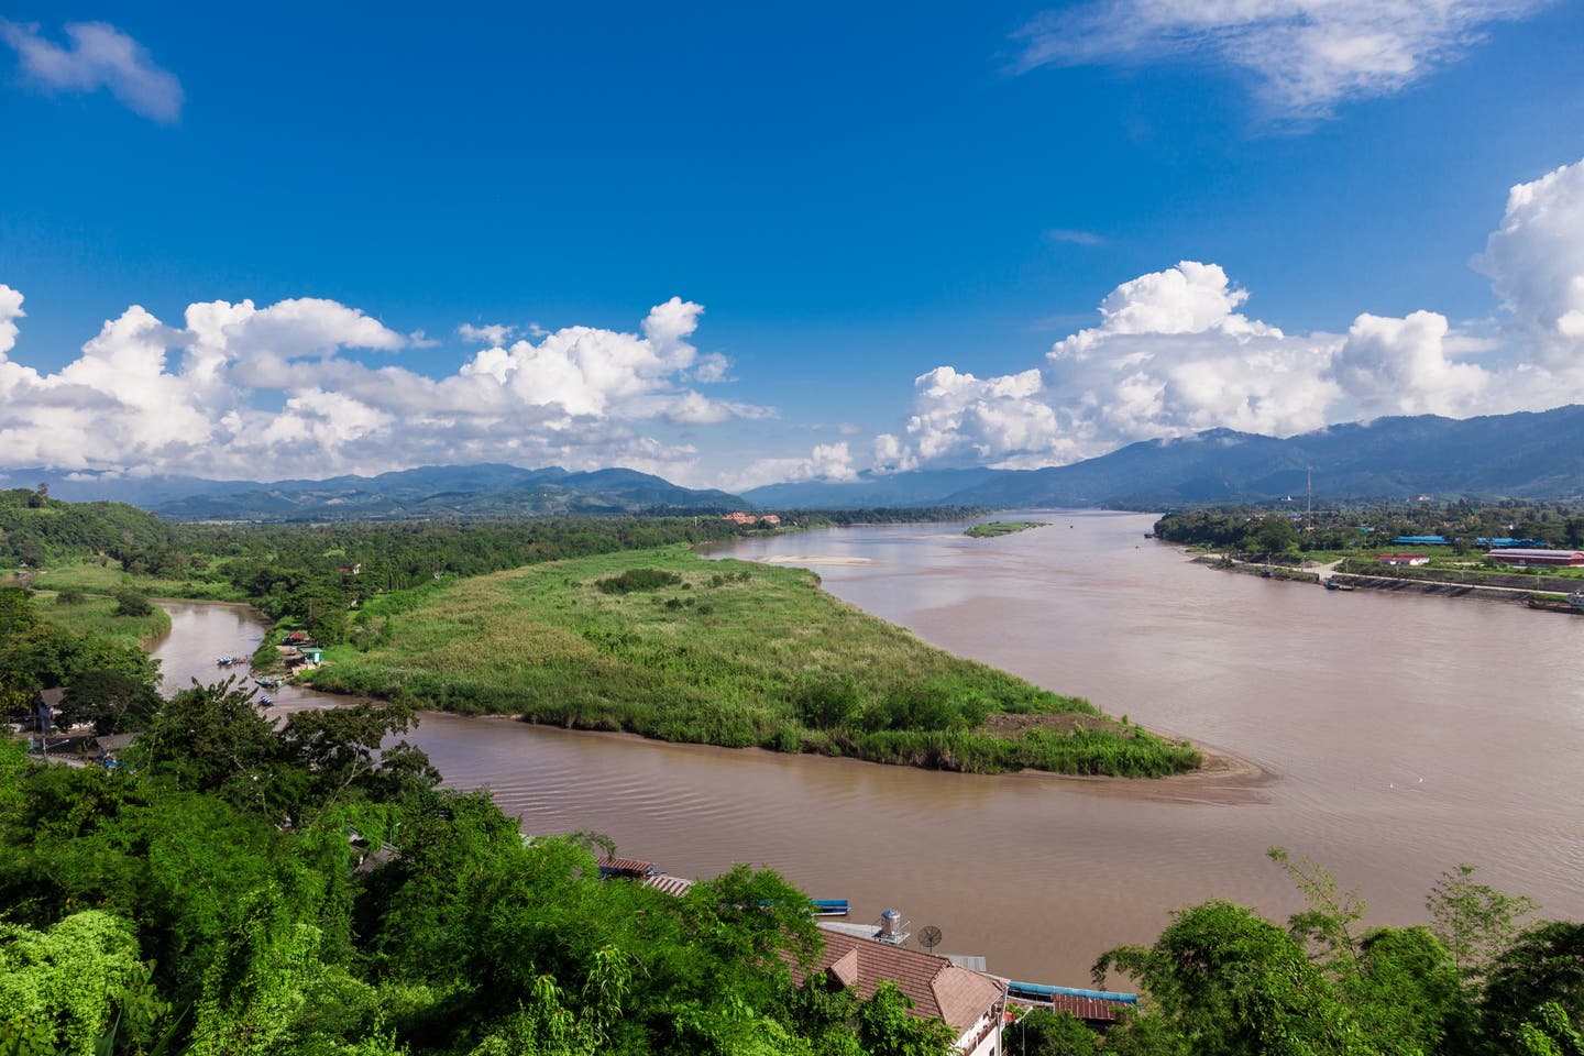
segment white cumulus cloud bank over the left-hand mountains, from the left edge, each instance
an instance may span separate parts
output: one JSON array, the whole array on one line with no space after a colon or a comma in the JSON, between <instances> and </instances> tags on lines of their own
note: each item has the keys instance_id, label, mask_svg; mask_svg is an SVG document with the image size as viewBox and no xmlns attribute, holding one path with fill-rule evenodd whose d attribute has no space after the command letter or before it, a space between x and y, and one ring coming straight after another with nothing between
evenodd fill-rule
<instances>
[{"instance_id":1,"label":"white cumulus cloud bank over the left-hand mountains, from the left edge","mask_svg":"<svg viewBox=\"0 0 1584 1056\"><path fill-rule=\"evenodd\" d=\"M10 358L22 294L0 285L0 459L246 478L493 459L686 473L697 451L646 431L770 413L689 388L718 359L689 342L702 310L672 298L642 336L570 326L432 378L363 363L410 339L334 301L193 304L181 328L133 306L40 374Z\"/></svg>"}]
</instances>

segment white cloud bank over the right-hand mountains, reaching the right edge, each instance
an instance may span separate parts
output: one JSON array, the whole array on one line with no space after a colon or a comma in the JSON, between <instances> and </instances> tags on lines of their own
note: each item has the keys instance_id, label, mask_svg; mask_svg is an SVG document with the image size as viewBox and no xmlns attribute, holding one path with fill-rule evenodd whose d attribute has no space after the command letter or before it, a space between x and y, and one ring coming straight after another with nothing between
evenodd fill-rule
<instances>
[{"instance_id":1,"label":"white cloud bank over the right-hand mountains, reaching the right edge","mask_svg":"<svg viewBox=\"0 0 1584 1056\"><path fill-rule=\"evenodd\" d=\"M1248 294L1220 266L1182 261L1117 287L1099 325L1036 367L920 375L912 415L878 439L876 464L1036 467L1212 427L1293 435L1584 401L1584 161L1514 187L1476 264L1506 309L1497 339L1424 310L1286 334L1240 310Z\"/></svg>"}]
</instances>

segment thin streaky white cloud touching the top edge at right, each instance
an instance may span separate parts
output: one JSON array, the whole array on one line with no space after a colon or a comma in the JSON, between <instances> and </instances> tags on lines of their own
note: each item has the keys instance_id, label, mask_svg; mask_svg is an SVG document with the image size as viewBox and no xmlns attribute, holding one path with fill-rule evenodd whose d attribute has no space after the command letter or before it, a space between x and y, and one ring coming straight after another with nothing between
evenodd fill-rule
<instances>
[{"instance_id":1,"label":"thin streaky white cloud touching the top edge at right","mask_svg":"<svg viewBox=\"0 0 1584 1056\"><path fill-rule=\"evenodd\" d=\"M1019 66L1207 60L1255 78L1267 106L1326 117L1454 62L1498 21L1551 0L1091 0L1019 38Z\"/></svg>"}]
</instances>

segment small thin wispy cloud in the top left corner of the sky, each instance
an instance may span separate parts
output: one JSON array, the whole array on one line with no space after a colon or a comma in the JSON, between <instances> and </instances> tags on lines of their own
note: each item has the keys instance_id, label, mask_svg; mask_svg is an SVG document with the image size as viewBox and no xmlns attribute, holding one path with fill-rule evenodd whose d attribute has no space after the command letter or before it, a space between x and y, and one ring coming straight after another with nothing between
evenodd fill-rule
<instances>
[{"instance_id":1,"label":"small thin wispy cloud in the top left corner of the sky","mask_svg":"<svg viewBox=\"0 0 1584 1056\"><path fill-rule=\"evenodd\" d=\"M10 44L29 79L52 92L108 89L127 109L158 122L182 114L182 85L155 65L149 51L105 22L71 22L67 46L40 35L38 25L0 19L0 40Z\"/></svg>"}]
</instances>

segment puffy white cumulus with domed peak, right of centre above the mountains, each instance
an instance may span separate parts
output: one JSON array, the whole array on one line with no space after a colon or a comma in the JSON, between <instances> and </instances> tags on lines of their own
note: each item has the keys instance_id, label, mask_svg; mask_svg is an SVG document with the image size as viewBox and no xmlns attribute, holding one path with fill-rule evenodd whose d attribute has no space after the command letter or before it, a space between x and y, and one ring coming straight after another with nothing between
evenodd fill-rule
<instances>
[{"instance_id":1,"label":"puffy white cumulus with domed peak, right of centre above the mountains","mask_svg":"<svg viewBox=\"0 0 1584 1056\"><path fill-rule=\"evenodd\" d=\"M1139 275L1106 296L1099 326L1057 342L1038 367L920 375L903 435L882 437L876 461L1025 469L1218 426L1286 435L1326 424L1342 339L1283 334L1240 313L1247 299L1217 264Z\"/></svg>"}]
</instances>

